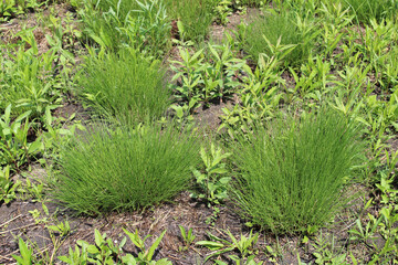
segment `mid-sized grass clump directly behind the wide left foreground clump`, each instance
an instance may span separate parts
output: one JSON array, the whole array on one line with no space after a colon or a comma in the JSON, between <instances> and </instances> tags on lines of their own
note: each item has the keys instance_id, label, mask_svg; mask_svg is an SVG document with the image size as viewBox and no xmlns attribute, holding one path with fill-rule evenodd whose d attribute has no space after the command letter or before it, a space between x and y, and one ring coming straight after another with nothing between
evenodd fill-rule
<instances>
[{"instance_id":1,"label":"mid-sized grass clump directly behind the wide left foreground clump","mask_svg":"<svg viewBox=\"0 0 398 265\"><path fill-rule=\"evenodd\" d=\"M160 117L169 106L170 91L164 78L160 62L136 52L91 55L78 78L80 94L100 115L121 123L143 121Z\"/></svg>"}]
</instances>

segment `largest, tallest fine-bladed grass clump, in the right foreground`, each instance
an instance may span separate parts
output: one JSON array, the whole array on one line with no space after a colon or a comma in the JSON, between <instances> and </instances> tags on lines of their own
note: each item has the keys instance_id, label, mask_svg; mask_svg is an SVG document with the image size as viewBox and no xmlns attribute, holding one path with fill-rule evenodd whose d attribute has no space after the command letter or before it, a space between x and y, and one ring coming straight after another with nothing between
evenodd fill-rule
<instances>
[{"instance_id":1,"label":"largest, tallest fine-bladed grass clump, in the right foreground","mask_svg":"<svg viewBox=\"0 0 398 265\"><path fill-rule=\"evenodd\" d=\"M234 201L243 216L275 233L305 232L332 221L364 145L356 125L322 110L275 120L238 137ZM247 139L250 144L248 144Z\"/></svg>"}]
</instances>

